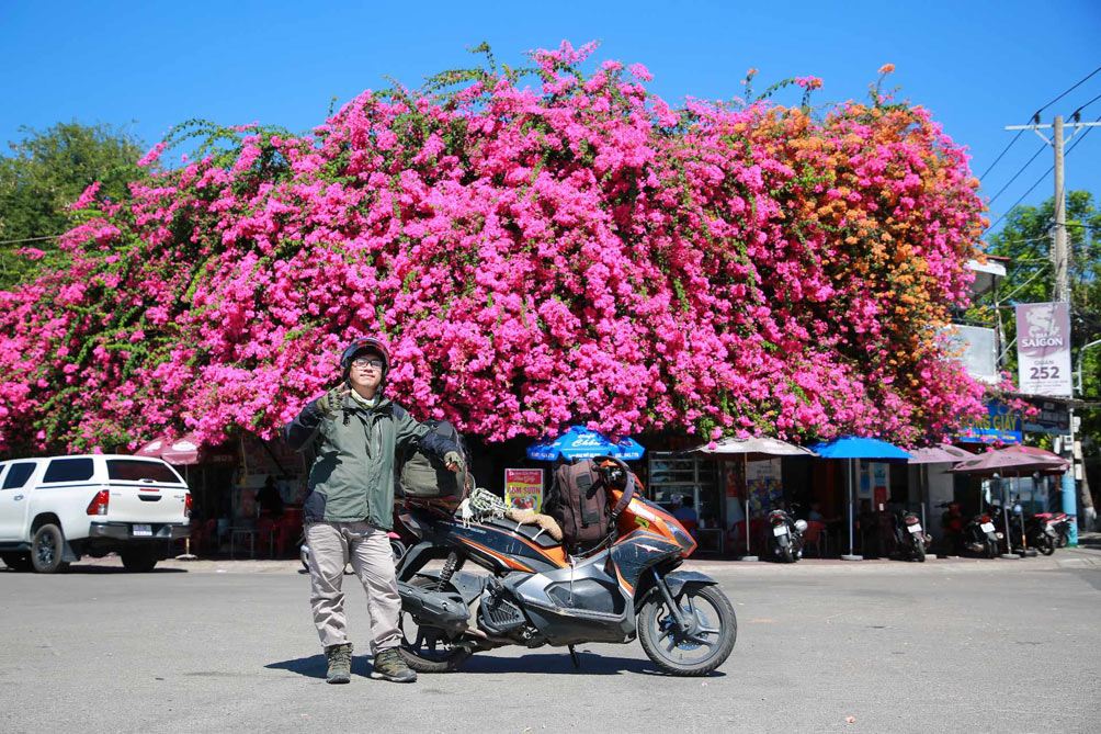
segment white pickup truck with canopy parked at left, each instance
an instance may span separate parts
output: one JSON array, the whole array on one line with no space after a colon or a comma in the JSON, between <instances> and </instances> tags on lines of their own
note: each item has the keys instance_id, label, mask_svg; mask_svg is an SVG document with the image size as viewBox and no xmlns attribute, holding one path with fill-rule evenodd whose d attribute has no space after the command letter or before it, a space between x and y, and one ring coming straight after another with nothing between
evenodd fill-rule
<instances>
[{"instance_id":1,"label":"white pickup truck with canopy parked at left","mask_svg":"<svg viewBox=\"0 0 1101 734\"><path fill-rule=\"evenodd\" d=\"M159 458L89 454L0 463L0 559L11 569L63 571L115 551L152 571L188 532L192 495Z\"/></svg>"}]
</instances>

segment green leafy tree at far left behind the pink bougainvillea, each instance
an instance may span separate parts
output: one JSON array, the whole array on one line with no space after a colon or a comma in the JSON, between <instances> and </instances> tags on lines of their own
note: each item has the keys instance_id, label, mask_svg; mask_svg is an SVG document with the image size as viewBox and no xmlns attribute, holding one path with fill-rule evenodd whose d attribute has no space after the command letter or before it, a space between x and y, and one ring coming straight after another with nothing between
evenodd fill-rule
<instances>
[{"instance_id":1,"label":"green leafy tree at far left behind the pink bougainvillea","mask_svg":"<svg viewBox=\"0 0 1101 734\"><path fill-rule=\"evenodd\" d=\"M20 132L23 139L0 156L0 289L57 267L55 237L73 224L68 205L88 185L99 181L99 195L119 201L143 175L137 165L142 142L113 126L74 121ZM46 255L32 261L19 253L24 247Z\"/></svg>"}]
</instances>

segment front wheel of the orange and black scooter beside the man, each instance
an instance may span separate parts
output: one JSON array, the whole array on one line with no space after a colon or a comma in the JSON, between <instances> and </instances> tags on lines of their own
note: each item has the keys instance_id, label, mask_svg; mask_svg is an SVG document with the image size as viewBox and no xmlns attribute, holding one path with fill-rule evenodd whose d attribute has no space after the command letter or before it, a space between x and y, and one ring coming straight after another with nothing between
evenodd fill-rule
<instances>
[{"instance_id":1,"label":"front wheel of the orange and black scooter beside the man","mask_svg":"<svg viewBox=\"0 0 1101 734\"><path fill-rule=\"evenodd\" d=\"M658 668L674 676L705 676L730 657L738 640L738 617L718 586L686 586L674 600L687 629L658 593L639 613L639 641Z\"/></svg>"}]
</instances>

